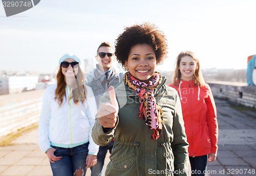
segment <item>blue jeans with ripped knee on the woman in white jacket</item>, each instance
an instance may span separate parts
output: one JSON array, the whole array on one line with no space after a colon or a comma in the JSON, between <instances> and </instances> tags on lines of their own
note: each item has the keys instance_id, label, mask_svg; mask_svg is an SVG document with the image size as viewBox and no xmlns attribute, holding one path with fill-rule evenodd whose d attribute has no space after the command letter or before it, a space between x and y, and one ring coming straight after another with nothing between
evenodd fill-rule
<instances>
[{"instance_id":1,"label":"blue jeans with ripped knee on the woman in white jacket","mask_svg":"<svg viewBox=\"0 0 256 176\"><path fill-rule=\"evenodd\" d=\"M55 163L50 162L53 175L70 176L73 175L77 169L80 169L77 172L83 172L83 174L79 175L86 175L86 158L88 155L88 145L89 142L73 148L52 146L56 149L54 155L57 157L62 157L61 160L55 161Z\"/></svg>"}]
</instances>

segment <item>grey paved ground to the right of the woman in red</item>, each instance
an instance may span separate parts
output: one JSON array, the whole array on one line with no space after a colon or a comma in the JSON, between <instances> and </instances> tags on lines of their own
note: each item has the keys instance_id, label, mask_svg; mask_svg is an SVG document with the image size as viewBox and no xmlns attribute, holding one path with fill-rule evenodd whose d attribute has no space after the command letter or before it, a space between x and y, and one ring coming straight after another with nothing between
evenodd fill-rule
<instances>
[{"instance_id":1,"label":"grey paved ground to the right of the woman in red","mask_svg":"<svg viewBox=\"0 0 256 176\"><path fill-rule=\"evenodd\" d=\"M219 123L217 161L208 175L256 175L256 113L237 111L216 99Z\"/></svg>"}]
</instances>

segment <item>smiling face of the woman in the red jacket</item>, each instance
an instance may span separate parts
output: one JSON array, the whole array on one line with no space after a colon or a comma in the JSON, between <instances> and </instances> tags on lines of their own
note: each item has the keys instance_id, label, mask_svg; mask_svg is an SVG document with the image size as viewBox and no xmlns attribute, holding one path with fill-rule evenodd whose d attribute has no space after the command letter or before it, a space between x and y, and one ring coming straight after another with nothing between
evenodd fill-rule
<instances>
[{"instance_id":1,"label":"smiling face of the woman in the red jacket","mask_svg":"<svg viewBox=\"0 0 256 176\"><path fill-rule=\"evenodd\" d=\"M195 59L191 56L184 56L180 60L180 73L181 79L189 81L193 80L193 75L198 69L198 65Z\"/></svg>"}]
</instances>

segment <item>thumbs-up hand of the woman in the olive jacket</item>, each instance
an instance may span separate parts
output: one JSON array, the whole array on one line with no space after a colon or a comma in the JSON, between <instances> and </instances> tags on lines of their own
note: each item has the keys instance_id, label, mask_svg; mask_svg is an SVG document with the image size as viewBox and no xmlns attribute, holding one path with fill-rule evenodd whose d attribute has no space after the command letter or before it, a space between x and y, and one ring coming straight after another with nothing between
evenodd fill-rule
<instances>
[{"instance_id":1,"label":"thumbs-up hand of the woman in the olive jacket","mask_svg":"<svg viewBox=\"0 0 256 176\"><path fill-rule=\"evenodd\" d=\"M104 128L115 127L118 114L118 102L113 86L109 87L110 101L102 103L98 109L99 124Z\"/></svg>"}]
</instances>

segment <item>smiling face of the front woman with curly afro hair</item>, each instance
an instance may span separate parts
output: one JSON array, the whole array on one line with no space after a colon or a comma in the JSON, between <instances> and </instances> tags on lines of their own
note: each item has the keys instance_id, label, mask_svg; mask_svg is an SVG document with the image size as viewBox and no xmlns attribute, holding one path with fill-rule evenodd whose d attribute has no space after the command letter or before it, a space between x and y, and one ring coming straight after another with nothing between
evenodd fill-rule
<instances>
[{"instance_id":1,"label":"smiling face of the front woman with curly afro hair","mask_svg":"<svg viewBox=\"0 0 256 176\"><path fill-rule=\"evenodd\" d=\"M138 80L148 82L157 67L156 54L152 46L143 43L131 48L125 68Z\"/></svg>"}]
</instances>

